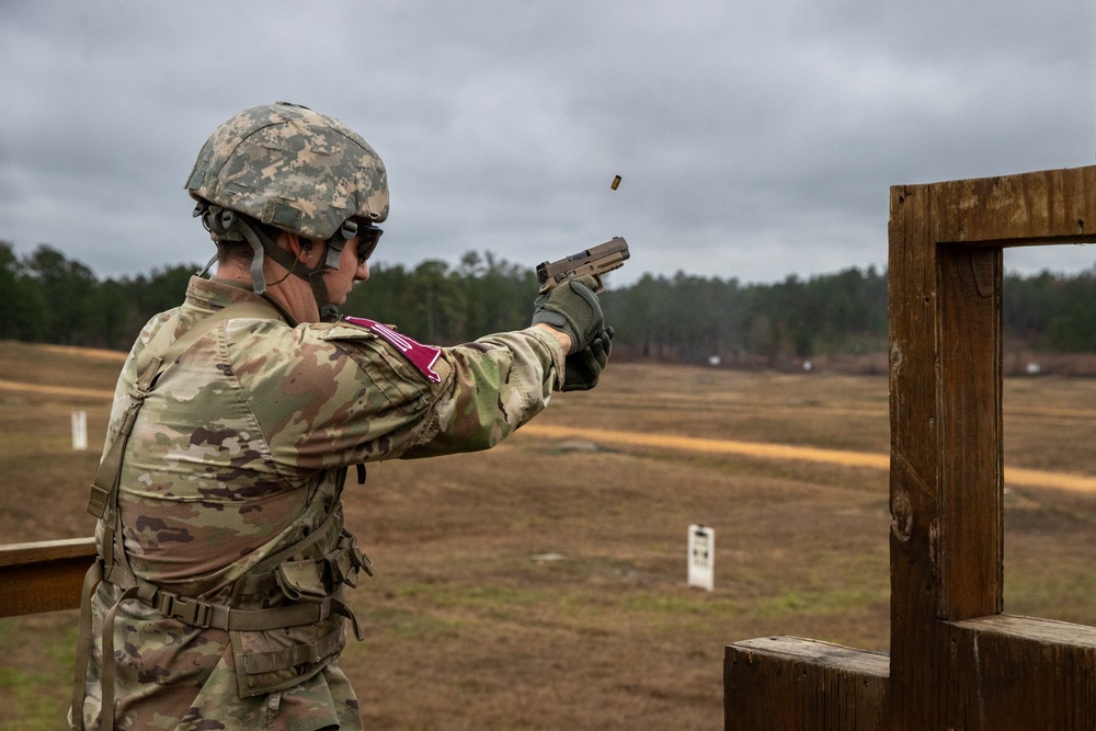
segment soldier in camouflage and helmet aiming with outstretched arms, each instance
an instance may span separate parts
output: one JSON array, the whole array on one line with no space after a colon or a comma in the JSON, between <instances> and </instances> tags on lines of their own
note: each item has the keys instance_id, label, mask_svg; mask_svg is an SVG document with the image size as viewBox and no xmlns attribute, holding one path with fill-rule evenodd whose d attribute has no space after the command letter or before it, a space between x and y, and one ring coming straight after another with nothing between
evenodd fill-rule
<instances>
[{"instance_id":1,"label":"soldier in camouflage and helmet aiming with outstretched arms","mask_svg":"<svg viewBox=\"0 0 1096 731\"><path fill-rule=\"evenodd\" d=\"M359 729L338 659L344 627L361 637L343 590L372 571L343 526L347 468L498 444L553 390L596 385L612 330L590 278L456 347L339 318L387 178L302 106L231 117L186 189L217 274L149 321L118 379L70 724Z\"/></svg>"}]
</instances>

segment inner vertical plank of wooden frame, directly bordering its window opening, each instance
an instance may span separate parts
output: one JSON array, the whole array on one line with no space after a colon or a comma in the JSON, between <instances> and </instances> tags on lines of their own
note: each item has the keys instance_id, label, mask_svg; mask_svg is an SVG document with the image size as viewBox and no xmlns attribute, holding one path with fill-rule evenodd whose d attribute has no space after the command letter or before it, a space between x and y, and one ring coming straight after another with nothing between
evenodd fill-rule
<instances>
[{"instance_id":1,"label":"inner vertical plank of wooden frame, directly bordering its window opening","mask_svg":"<svg viewBox=\"0 0 1096 731\"><path fill-rule=\"evenodd\" d=\"M1002 251L939 247L936 276L938 343L918 353L938 364L936 617L967 619L1003 603Z\"/></svg>"}]
</instances>

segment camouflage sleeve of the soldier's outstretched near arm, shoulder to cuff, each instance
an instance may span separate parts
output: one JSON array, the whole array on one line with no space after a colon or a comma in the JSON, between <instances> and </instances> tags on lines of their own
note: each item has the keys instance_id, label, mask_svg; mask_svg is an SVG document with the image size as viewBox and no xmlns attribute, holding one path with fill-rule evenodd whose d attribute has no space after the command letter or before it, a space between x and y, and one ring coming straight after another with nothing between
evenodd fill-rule
<instances>
[{"instance_id":1,"label":"camouflage sleeve of the soldier's outstretched near arm, shoulder to cuff","mask_svg":"<svg viewBox=\"0 0 1096 731\"><path fill-rule=\"evenodd\" d=\"M233 349L232 368L290 470L486 449L539 413L563 374L559 343L532 328L427 349L429 369L362 327L286 330L273 351L254 331L228 340L266 347Z\"/></svg>"}]
</instances>

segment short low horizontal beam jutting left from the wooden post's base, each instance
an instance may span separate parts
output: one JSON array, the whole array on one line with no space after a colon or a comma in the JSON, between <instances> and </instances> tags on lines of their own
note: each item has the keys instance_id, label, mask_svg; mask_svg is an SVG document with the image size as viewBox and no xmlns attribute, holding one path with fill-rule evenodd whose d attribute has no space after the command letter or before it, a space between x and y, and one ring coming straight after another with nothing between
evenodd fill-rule
<instances>
[{"instance_id":1,"label":"short low horizontal beam jutting left from the wooden post's base","mask_svg":"<svg viewBox=\"0 0 1096 731\"><path fill-rule=\"evenodd\" d=\"M723 658L727 731L878 731L889 656L796 637L730 644Z\"/></svg>"}]
</instances>

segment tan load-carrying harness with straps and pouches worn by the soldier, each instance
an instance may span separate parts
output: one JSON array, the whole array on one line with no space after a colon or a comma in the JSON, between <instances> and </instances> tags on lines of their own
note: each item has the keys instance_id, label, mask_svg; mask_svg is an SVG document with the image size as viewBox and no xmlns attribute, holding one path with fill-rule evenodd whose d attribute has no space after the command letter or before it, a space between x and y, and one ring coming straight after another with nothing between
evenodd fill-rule
<instances>
[{"instance_id":1,"label":"tan load-carrying harness with straps and pouches worn by the soldier","mask_svg":"<svg viewBox=\"0 0 1096 731\"><path fill-rule=\"evenodd\" d=\"M122 460L137 413L159 376L187 347L217 324L239 317L281 318L273 305L255 299L238 302L195 323L171 342L174 321L164 323L137 357L137 381L129 389L130 403L91 487L88 512L102 521L103 537L99 560L84 578L77 639L71 728L82 731L88 661L92 646L92 595L100 582L112 584L114 605L102 624L102 710L101 729L114 728L114 625L123 602L137 601L165 618L201 628L227 630L236 661L237 692L240 697L274 693L293 687L326 667L345 644L343 618L354 633L362 631L350 608L343 604L343 585L357 585L359 571L373 575L370 562L343 528L341 501L326 509L323 501L309 495L298 521L312 519L319 527L297 544L274 553L231 586L227 603L212 603L180 596L145 581L129 567L118 511ZM342 486L345 468L338 470ZM319 481L318 481L319 484ZM322 522L321 522L322 521ZM313 523L313 524L315 524ZM319 559L302 560L306 549L322 551Z\"/></svg>"}]
</instances>

